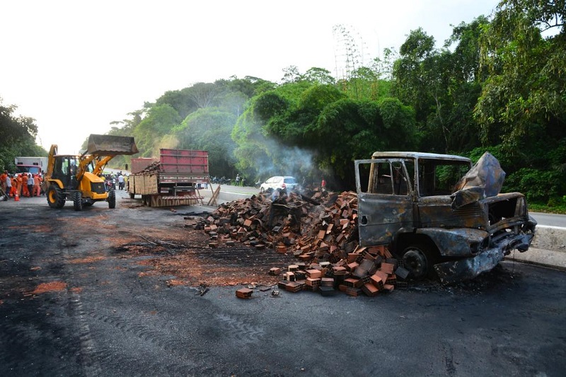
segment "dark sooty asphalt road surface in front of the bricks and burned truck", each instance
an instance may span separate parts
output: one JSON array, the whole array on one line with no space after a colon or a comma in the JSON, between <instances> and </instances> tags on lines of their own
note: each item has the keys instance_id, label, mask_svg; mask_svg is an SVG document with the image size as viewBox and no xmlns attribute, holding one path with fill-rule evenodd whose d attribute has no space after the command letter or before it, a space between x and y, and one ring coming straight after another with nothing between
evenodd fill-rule
<instances>
[{"instance_id":1,"label":"dark sooty asphalt road surface in front of the bricks and burned truck","mask_svg":"<svg viewBox=\"0 0 566 377\"><path fill-rule=\"evenodd\" d=\"M202 207L136 200L0 202L0 376L564 376L565 272L503 262L374 298L200 296L122 243L188 232L179 214Z\"/></svg>"}]
</instances>

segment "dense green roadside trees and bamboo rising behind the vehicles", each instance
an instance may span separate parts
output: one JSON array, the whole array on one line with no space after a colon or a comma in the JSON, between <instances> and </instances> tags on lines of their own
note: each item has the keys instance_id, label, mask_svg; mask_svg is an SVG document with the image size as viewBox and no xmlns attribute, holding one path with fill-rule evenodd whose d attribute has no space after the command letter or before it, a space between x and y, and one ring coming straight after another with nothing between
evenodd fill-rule
<instances>
[{"instance_id":1,"label":"dense green roadside trees and bamboo rising behind the vehicles","mask_svg":"<svg viewBox=\"0 0 566 377\"><path fill-rule=\"evenodd\" d=\"M504 191L523 192L531 211L566 213L565 19L564 0L504 0L492 15L455 25L440 44L416 28L368 64L337 25L347 51L340 74L289 66L278 83L195 83L132 111L110 134L134 136L138 156L207 150L218 177L324 178L337 190L354 188L352 161L374 151L473 161L490 151L507 173ZM33 120L20 121L33 140ZM123 167L129 158L112 162Z\"/></svg>"}]
</instances>

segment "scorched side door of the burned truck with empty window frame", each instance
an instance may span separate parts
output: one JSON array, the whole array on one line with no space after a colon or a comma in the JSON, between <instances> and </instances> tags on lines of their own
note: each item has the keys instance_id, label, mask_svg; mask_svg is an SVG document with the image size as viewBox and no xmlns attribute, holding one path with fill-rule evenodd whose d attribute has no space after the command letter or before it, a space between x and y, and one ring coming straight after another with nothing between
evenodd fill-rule
<instances>
[{"instance_id":1,"label":"scorched side door of the burned truck with empty window frame","mask_svg":"<svg viewBox=\"0 0 566 377\"><path fill-rule=\"evenodd\" d=\"M355 161L359 244L386 245L400 228L412 227L412 159Z\"/></svg>"}]
</instances>

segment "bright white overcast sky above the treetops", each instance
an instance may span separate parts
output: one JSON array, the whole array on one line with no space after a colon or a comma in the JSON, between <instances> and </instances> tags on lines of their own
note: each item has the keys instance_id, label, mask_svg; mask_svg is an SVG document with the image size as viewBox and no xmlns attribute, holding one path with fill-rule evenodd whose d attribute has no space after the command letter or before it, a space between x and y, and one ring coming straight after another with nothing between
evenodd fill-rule
<instances>
[{"instance_id":1,"label":"bright white overcast sky above the treetops","mask_svg":"<svg viewBox=\"0 0 566 377\"><path fill-rule=\"evenodd\" d=\"M89 134L166 91L231 76L280 82L289 66L335 75L335 25L369 63L417 28L441 47L451 25L489 16L497 2L0 0L0 98L35 119L47 151L79 153Z\"/></svg>"}]
</instances>

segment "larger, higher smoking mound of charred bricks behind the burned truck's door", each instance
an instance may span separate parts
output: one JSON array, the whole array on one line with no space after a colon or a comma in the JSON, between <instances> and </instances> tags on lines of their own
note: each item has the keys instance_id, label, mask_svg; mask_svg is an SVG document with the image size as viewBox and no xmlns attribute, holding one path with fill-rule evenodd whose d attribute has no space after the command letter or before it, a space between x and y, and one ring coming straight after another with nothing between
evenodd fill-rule
<instances>
[{"instance_id":1,"label":"larger, higher smoking mound of charred bricks behind the burned truck's door","mask_svg":"<svg viewBox=\"0 0 566 377\"><path fill-rule=\"evenodd\" d=\"M320 204L318 204L320 203ZM253 195L221 204L196 229L207 232L209 247L240 242L254 248L293 253L304 262L337 262L357 247L355 192L291 192L272 202Z\"/></svg>"}]
</instances>

